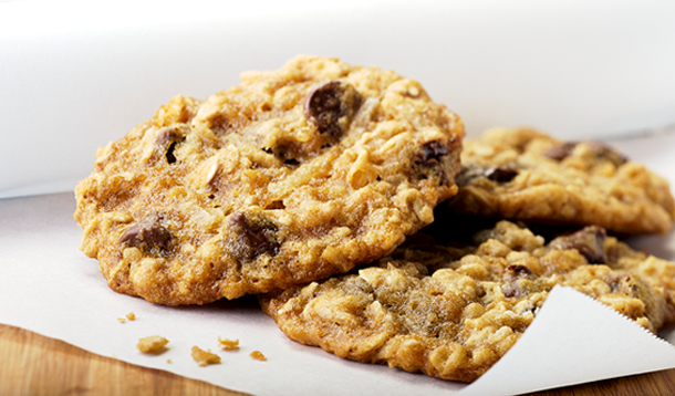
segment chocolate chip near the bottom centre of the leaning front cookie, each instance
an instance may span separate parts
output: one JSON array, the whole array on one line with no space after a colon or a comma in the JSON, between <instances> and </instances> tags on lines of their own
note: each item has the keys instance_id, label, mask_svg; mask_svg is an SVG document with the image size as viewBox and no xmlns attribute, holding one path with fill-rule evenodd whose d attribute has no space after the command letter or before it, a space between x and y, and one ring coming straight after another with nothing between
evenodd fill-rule
<instances>
[{"instance_id":1,"label":"chocolate chip near the bottom centre of the leaning front cookie","mask_svg":"<svg viewBox=\"0 0 675 396\"><path fill-rule=\"evenodd\" d=\"M232 247L235 256L255 260L261 254L277 256L279 253L279 229L270 220L236 212L230 216L229 221L238 233Z\"/></svg>"}]
</instances>

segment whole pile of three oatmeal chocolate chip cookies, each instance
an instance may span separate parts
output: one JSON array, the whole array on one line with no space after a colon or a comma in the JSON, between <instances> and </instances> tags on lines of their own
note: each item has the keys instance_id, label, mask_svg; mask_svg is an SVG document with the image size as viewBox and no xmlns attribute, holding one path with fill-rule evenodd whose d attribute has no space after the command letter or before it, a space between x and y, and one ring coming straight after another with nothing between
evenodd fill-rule
<instances>
[{"instance_id":1,"label":"whole pile of three oatmeal chocolate chip cookies","mask_svg":"<svg viewBox=\"0 0 675 396\"><path fill-rule=\"evenodd\" d=\"M652 331L675 320L675 264L606 235L671 228L668 184L642 165L530 129L463 144L457 115L377 67L298 56L242 81L96 153L74 217L113 290L259 294L295 341L463 382L555 284Z\"/></svg>"}]
</instances>

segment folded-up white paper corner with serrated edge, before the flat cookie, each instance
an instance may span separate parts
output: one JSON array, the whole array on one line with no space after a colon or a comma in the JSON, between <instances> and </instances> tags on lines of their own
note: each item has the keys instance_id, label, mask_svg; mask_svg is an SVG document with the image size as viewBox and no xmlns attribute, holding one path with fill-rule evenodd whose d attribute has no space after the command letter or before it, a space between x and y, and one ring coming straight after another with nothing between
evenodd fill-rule
<instances>
[{"instance_id":1,"label":"folded-up white paper corner with serrated edge, before the flat cookie","mask_svg":"<svg viewBox=\"0 0 675 396\"><path fill-rule=\"evenodd\" d=\"M574 323L574 317L571 317L574 314L573 310L581 312L579 317L591 319L590 323L581 326L579 322ZM617 321L617 319L620 320ZM615 326L613 330L615 329L616 332L602 333L603 324L608 327ZM551 326L561 330L561 332L549 337ZM573 351L573 353L567 356L554 355L542 358L541 351L557 351L555 346L550 344L557 344L557 342L552 343L551 341L560 341L555 336L559 337L561 334L567 338L565 344L583 345L583 338L589 338L586 337L589 333L583 332L589 330L590 326L595 326L594 330L596 330L592 338L599 340L598 342L590 342L592 347L589 347L589 350L595 350L594 355L601 355L604 359L604 364L592 367L594 368L592 373L579 369L583 365L581 362L588 364L598 361L593 358L594 356L589 355L589 351L583 351L583 348L559 347L558 352ZM601 334L598 334L599 332ZM629 342L629 340L619 338L623 340L620 344L622 347L615 348L616 340L612 340L613 336L630 336L631 340ZM637 344L640 346L636 346ZM640 347L648 347L644 352L652 354L648 356L646 365L643 365L643 361L629 356L640 355L640 351L634 350ZM561 357L564 357L564 359ZM574 365L575 369L567 371L565 368L570 366L569 363L574 361L579 363ZM523 365L522 362L526 362L526 364ZM609 366L613 367L608 371ZM572 288L557 285L518 343L486 374L460 390L458 395L517 395L673 367L675 367L675 346L673 344L629 320L609 305ZM546 377L534 378L534 382L521 381L537 377L536 373L546 373ZM560 375L560 373L563 374ZM509 381L505 382L503 378L509 378Z\"/></svg>"}]
</instances>

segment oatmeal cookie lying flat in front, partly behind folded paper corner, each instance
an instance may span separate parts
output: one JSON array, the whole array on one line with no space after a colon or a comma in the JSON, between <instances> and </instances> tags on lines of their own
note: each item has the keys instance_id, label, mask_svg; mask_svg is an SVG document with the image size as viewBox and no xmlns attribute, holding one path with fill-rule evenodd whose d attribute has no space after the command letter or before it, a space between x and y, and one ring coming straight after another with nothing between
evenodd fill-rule
<instances>
[{"instance_id":1,"label":"oatmeal cookie lying flat in front, partly behind folded paper corner","mask_svg":"<svg viewBox=\"0 0 675 396\"><path fill-rule=\"evenodd\" d=\"M460 382L475 381L513 346L557 284L651 331L675 320L675 263L635 252L596 226L544 244L500 221L474 240L406 242L357 272L259 301L302 344Z\"/></svg>"}]
</instances>

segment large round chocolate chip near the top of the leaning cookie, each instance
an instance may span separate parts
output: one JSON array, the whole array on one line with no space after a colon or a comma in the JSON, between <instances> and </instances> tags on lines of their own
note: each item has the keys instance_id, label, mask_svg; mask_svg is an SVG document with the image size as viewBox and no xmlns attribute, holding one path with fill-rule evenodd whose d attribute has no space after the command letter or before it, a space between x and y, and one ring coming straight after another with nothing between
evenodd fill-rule
<instances>
[{"instance_id":1,"label":"large round chocolate chip near the top of the leaning cookie","mask_svg":"<svg viewBox=\"0 0 675 396\"><path fill-rule=\"evenodd\" d=\"M308 95L304 114L320 133L338 137L346 131L362 102L363 97L352 85L330 81Z\"/></svg>"}]
</instances>

